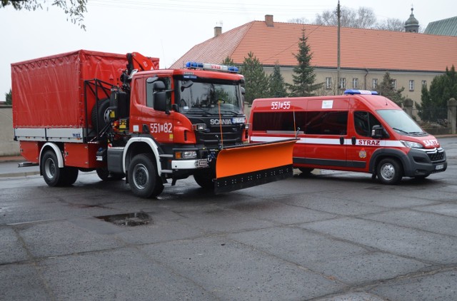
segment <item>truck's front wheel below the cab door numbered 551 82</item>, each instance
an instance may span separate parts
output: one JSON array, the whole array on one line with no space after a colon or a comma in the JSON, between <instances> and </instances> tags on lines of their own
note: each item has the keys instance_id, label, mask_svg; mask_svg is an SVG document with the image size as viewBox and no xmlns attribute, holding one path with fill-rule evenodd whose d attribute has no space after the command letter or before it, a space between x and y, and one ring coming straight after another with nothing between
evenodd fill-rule
<instances>
[{"instance_id":1,"label":"truck's front wheel below the cab door numbered 551 82","mask_svg":"<svg viewBox=\"0 0 457 301\"><path fill-rule=\"evenodd\" d=\"M141 198L155 197L164 190L156 160L150 153L141 153L131 160L128 177L132 192Z\"/></svg>"}]
</instances>

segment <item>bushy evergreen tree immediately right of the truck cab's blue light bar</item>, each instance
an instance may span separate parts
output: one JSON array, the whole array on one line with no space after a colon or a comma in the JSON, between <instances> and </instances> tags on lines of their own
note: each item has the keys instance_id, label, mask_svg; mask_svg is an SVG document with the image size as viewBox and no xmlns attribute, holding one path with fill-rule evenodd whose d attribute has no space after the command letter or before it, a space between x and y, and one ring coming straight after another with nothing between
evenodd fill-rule
<instances>
[{"instance_id":1,"label":"bushy evergreen tree immediately right of the truck cab's blue light bar","mask_svg":"<svg viewBox=\"0 0 457 301\"><path fill-rule=\"evenodd\" d=\"M244 88L246 90L244 101L252 103L256 98L268 96L269 77L263 71L263 65L252 52L249 52L248 57L244 58L243 65L241 65L241 73L244 76Z\"/></svg>"}]
</instances>

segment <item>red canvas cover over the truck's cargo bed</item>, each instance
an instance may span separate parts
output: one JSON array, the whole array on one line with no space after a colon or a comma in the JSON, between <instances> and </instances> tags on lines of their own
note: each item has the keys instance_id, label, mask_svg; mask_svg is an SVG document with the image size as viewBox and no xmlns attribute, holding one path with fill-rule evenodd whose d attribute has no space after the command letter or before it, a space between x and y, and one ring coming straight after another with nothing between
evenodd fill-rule
<instances>
[{"instance_id":1,"label":"red canvas cover over the truck's cargo bed","mask_svg":"<svg viewBox=\"0 0 457 301\"><path fill-rule=\"evenodd\" d=\"M117 85L126 55L79 50L11 64L14 128L81 128L95 103L84 81ZM86 114L89 118L86 119Z\"/></svg>"}]
</instances>

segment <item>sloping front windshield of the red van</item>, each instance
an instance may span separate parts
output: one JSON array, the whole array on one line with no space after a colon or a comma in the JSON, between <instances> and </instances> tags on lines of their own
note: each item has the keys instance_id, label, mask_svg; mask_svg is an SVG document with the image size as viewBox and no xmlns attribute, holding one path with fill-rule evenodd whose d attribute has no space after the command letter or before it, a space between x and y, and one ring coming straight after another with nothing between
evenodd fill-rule
<instances>
[{"instance_id":1,"label":"sloping front windshield of the red van","mask_svg":"<svg viewBox=\"0 0 457 301\"><path fill-rule=\"evenodd\" d=\"M422 131L416 121L413 120L403 110L378 110L379 115L386 121L394 131L401 135L425 136L428 135Z\"/></svg>"}]
</instances>

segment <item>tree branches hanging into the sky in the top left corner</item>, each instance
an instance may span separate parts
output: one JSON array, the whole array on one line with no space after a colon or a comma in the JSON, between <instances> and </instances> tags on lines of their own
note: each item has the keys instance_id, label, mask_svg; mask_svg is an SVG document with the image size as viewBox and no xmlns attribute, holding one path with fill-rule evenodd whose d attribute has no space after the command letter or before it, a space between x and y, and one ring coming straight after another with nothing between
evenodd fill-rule
<instances>
[{"instance_id":1,"label":"tree branches hanging into the sky in the top left corner","mask_svg":"<svg viewBox=\"0 0 457 301\"><path fill-rule=\"evenodd\" d=\"M69 3L67 3L69 2ZM86 30L86 26L83 24L84 13L87 11L86 5L87 0L52 0L42 1L42 0L29 0L29 1L11 1L11 0L1 0L0 8L6 6L13 6L14 9L20 11L22 9L26 11L36 11L37 9L49 9L49 6L56 6L59 9L62 9L67 15L66 20L71 21L73 24L78 24L81 29ZM44 7L43 7L44 6Z\"/></svg>"}]
</instances>

